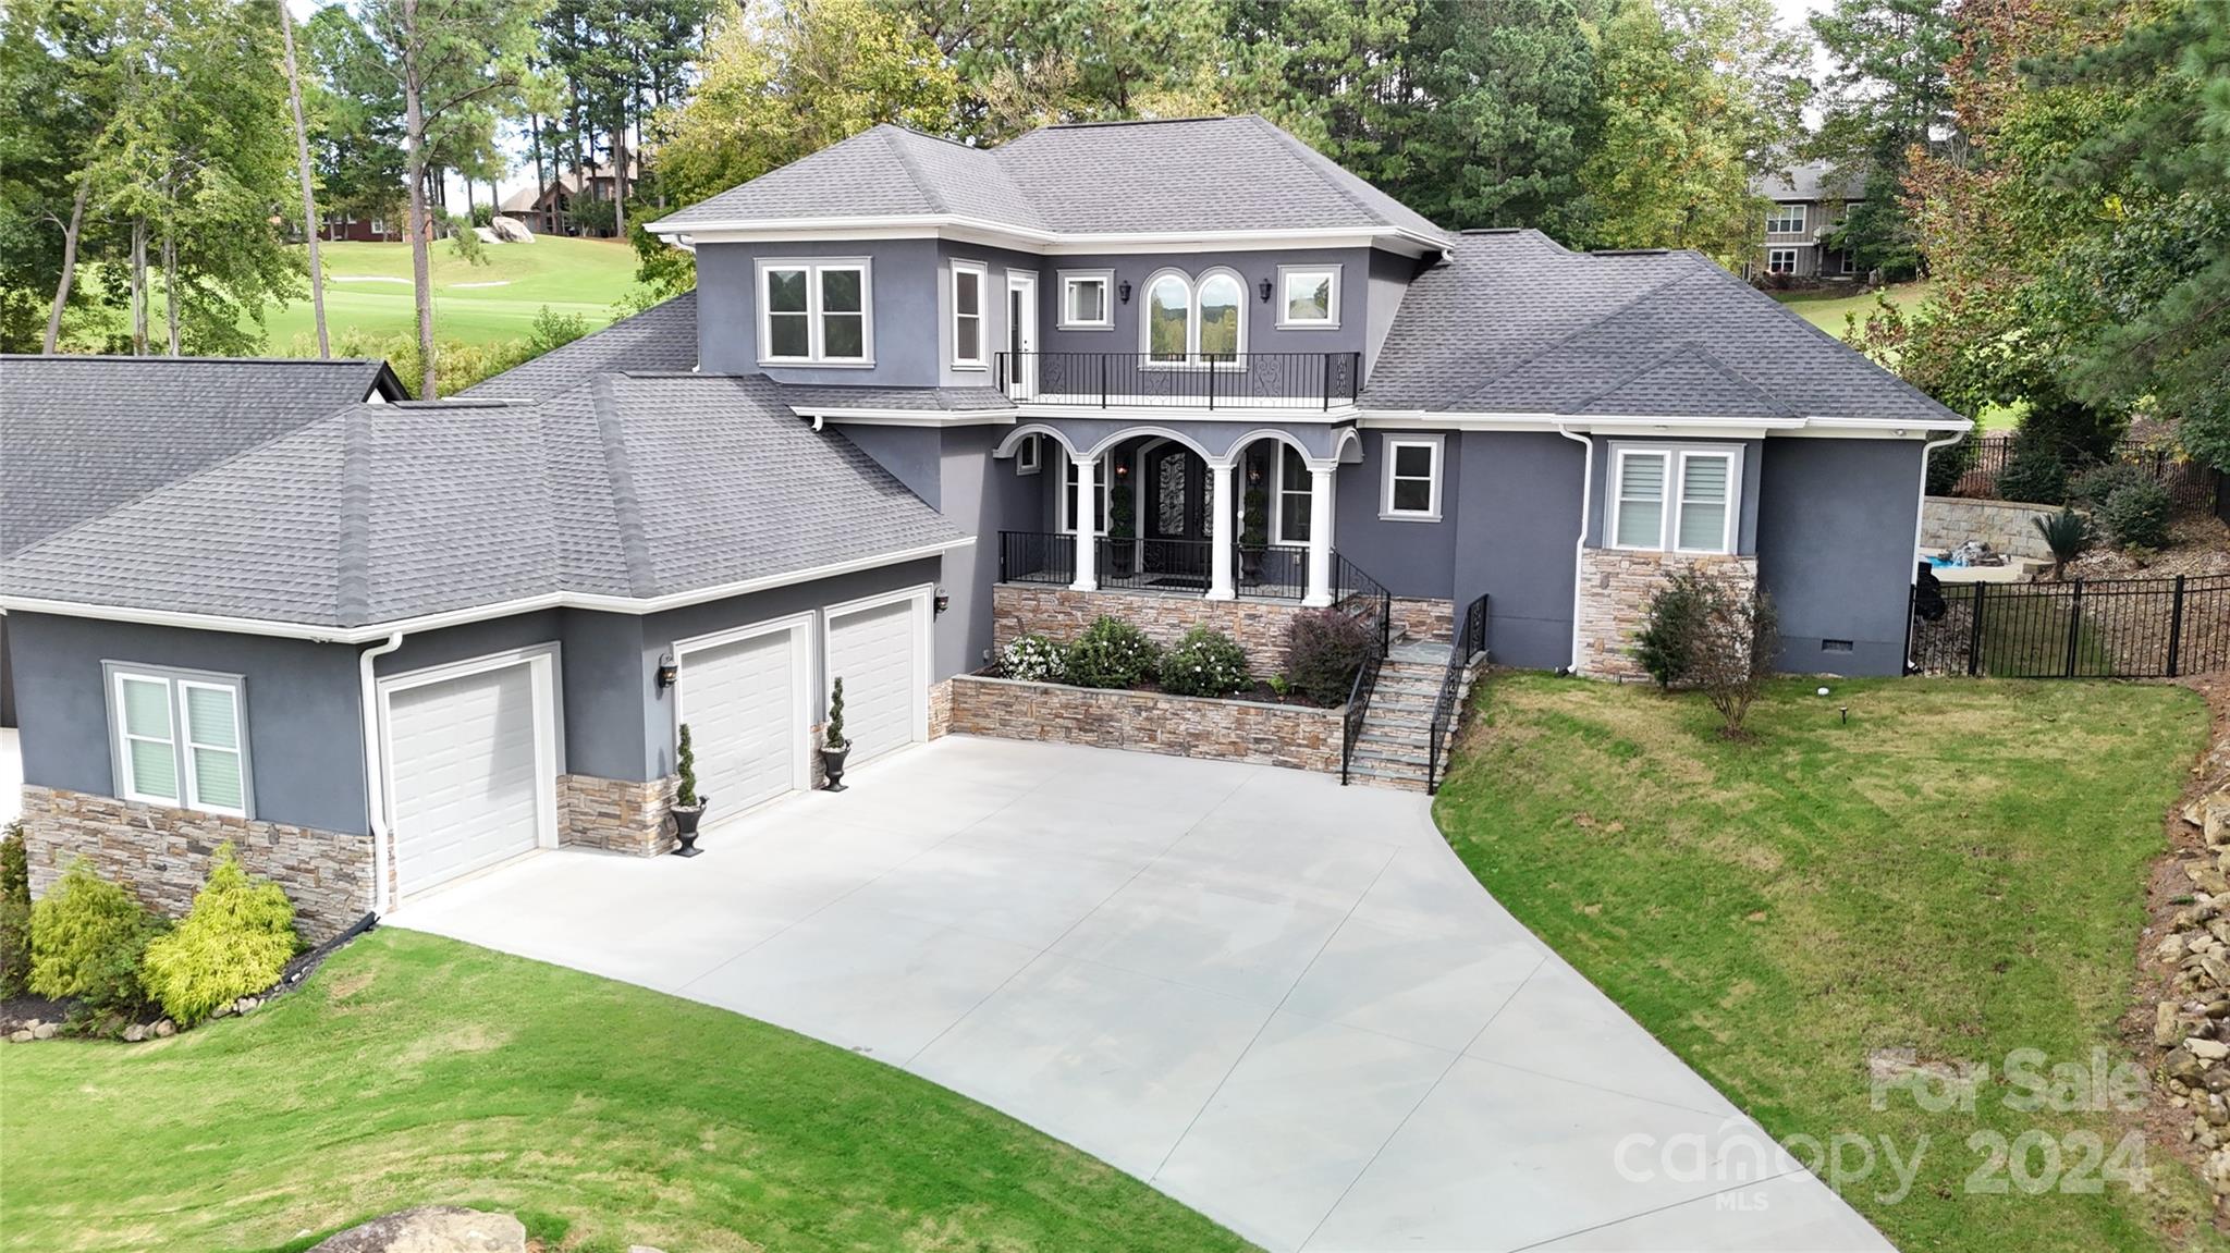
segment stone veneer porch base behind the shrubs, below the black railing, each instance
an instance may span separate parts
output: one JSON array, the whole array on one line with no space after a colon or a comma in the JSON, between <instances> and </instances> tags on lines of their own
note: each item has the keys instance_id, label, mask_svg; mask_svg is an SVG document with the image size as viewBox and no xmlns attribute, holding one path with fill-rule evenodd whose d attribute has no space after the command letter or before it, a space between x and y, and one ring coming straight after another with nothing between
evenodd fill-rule
<instances>
[{"instance_id":1,"label":"stone veneer porch base behind the shrubs, below the black railing","mask_svg":"<svg viewBox=\"0 0 2230 1253\"><path fill-rule=\"evenodd\" d=\"M1021 635L1046 635L1066 644L1095 618L1106 615L1135 624L1157 644L1175 644L1193 626L1213 626L1247 649L1255 673L1284 669L1284 633L1300 613L1309 611L1291 600L1202 600L1039 584L999 584L990 593L992 647L1006 647Z\"/></svg>"}]
</instances>

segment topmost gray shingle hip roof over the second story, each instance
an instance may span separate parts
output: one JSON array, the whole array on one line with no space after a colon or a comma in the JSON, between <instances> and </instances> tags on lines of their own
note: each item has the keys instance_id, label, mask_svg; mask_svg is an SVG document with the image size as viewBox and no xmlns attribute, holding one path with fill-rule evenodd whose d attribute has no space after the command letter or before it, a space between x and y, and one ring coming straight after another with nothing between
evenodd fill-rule
<instances>
[{"instance_id":1,"label":"topmost gray shingle hip roof over the second story","mask_svg":"<svg viewBox=\"0 0 2230 1253\"><path fill-rule=\"evenodd\" d=\"M1070 234L1441 227L1269 120L1041 127L977 149L881 125L651 230L827 216L968 216Z\"/></svg>"}]
</instances>

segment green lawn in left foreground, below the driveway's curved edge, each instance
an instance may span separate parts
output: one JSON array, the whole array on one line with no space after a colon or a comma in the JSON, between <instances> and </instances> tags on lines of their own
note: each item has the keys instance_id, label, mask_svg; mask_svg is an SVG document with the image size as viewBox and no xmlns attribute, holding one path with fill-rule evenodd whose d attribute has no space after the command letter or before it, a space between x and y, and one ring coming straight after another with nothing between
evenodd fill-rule
<instances>
[{"instance_id":1,"label":"green lawn in left foreground, below the driveway's curved edge","mask_svg":"<svg viewBox=\"0 0 2230 1253\"><path fill-rule=\"evenodd\" d=\"M1235 1235L925 1079L413 932L149 1046L0 1063L0 1246L301 1249L433 1202L566 1249L1213 1251Z\"/></svg>"}]
</instances>

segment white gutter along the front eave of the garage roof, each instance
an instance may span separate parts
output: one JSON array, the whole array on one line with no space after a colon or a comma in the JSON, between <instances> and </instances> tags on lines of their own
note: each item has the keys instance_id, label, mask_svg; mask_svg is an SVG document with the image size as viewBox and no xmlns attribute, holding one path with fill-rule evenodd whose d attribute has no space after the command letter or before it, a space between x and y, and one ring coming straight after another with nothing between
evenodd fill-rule
<instances>
[{"instance_id":1,"label":"white gutter along the front eave of the garage roof","mask_svg":"<svg viewBox=\"0 0 2230 1253\"><path fill-rule=\"evenodd\" d=\"M874 571L881 566L896 566L903 562L919 562L923 557L941 557L952 548L968 548L975 544L975 535L963 535L959 540L946 540L941 544L923 544L921 548L905 548L901 553L879 553L874 557L856 557L850 562L836 562L827 566L814 566L809 571L792 571L785 575L765 575L756 580L740 580L718 586L705 586L696 591L678 591L671 595L595 595L575 591L553 591L544 595L529 595L522 600L504 600L497 604L477 604L468 609L448 609L444 613L426 613L419 618L404 618L401 622L381 622L377 626L321 626L314 622L283 622L272 618L227 618L221 613L178 613L169 609L132 609L123 604L89 604L76 600L38 600L27 595L0 595L0 611L22 611L22 613L54 613L60 618L98 618L103 622L143 622L149 626L183 626L187 631L230 631L234 635L272 635L281 640L310 640L317 644L368 644L372 640L384 640L392 633L421 633L439 631L444 626L462 626L466 622L486 622L491 618L511 618L513 613L535 613L540 609L595 609L604 613L660 613L665 609L682 609L687 604L705 604L707 600L727 600L731 595L749 595L754 591L767 591L776 586L794 586L801 582L816 582L836 575L850 575L854 571Z\"/></svg>"}]
</instances>

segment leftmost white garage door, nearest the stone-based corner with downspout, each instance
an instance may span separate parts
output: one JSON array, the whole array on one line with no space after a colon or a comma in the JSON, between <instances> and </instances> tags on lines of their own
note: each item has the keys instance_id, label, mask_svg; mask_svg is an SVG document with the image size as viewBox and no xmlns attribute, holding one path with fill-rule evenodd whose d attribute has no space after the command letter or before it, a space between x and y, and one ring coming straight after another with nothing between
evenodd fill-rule
<instances>
[{"instance_id":1,"label":"leftmost white garage door, nearest the stone-based corner with downspout","mask_svg":"<svg viewBox=\"0 0 2230 1253\"><path fill-rule=\"evenodd\" d=\"M555 809L526 662L388 696L395 874L424 892L531 852Z\"/></svg>"}]
</instances>

